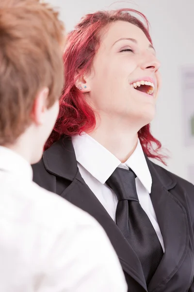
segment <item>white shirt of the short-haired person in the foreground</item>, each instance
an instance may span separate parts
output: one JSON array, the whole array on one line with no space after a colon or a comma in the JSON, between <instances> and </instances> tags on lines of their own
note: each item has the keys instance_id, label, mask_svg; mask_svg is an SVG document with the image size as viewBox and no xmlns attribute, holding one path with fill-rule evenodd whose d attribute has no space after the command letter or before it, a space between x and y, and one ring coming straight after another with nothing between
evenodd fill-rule
<instances>
[{"instance_id":1,"label":"white shirt of the short-haired person in the foreground","mask_svg":"<svg viewBox=\"0 0 194 292\"><path fill-rule=\"evenodd\" d=\"M105 231L0 146L0 292L127 292Z\"/></svg>"}]
</instances>

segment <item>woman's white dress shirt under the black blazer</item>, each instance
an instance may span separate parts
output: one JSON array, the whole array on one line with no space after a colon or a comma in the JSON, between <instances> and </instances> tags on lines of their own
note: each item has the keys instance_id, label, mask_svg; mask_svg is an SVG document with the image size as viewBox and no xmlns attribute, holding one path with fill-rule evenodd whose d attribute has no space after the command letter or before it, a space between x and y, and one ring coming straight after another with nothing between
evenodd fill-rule
<instances>
[{"instance_id":1,"label":"woman's white dress shirt under the black blazer","mask_svg":"<svg viewBox=\"0 0 194 292\"><path fill-rule=\"evenodd\" d=\"M136 149L124 164L86 133L74 136L72 142L83 180L114 221L118 200L106 181L116 167L131 168L134 171L137 176L135 183L139 202L150 219L164 251L162 234L149 195L152 178L139 139Z\"/></svg>"}]
</instances>

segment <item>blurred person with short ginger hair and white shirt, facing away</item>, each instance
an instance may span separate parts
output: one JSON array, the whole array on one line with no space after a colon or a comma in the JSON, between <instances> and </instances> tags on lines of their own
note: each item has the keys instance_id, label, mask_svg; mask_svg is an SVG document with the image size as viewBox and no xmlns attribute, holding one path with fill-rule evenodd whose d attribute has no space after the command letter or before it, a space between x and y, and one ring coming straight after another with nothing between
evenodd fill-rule
<instances>
[{"instance_id":1,"label":"blurred person with short ginger hair and white shirt, facing away","mask_svg":"<svg viewBox=\"0 0 194 292\"><path fill-rule=\"evenodd\" d=\"M126 292L95 219L32 182L59 112L65 30L39 0L0 1L0 292Z\"/></svg>"}]
</instances>

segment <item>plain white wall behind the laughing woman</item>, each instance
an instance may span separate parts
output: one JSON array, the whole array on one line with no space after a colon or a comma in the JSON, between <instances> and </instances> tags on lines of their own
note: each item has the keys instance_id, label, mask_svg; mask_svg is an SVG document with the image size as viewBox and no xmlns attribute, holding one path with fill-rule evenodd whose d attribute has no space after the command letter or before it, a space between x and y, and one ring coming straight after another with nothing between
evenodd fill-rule
<instances>
[{"instance_id":1,"label":"plain white wall behind the laughing woman","mask_svg":"<svg viewBox=\"0 0 194 292\"><path fill-rule=\"evenodd\" d=\"M180 73L181 66L194 65L194 0L49 2L60 8L67 31L73 29L84 14L99 9L129 7L146 15L151 25L151 36L157 56L162 62L162 90L157 105L157 116L152 123L152 132L170 151L167 169L189 180L188 165L194 164L194 146L184 146Z\"/></svg>"}]
</instances>

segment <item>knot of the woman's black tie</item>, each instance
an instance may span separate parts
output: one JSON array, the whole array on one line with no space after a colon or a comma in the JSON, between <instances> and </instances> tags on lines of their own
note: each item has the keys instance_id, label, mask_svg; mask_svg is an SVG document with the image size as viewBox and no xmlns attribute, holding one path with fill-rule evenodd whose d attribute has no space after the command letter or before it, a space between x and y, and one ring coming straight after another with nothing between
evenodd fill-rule
<instances>
[{"instance_id":1,"label":"knot of the woman's black tie","mask_svg":"<svg viewBox=\"0 0 194 292\"><path fill-rule=\"evenodd\" d=\"M106 183L112 188L118 201L139 201L136 191L135 177L136 175L131 169L128 170L117 167Z\"/></svg>"}]
</instances>

